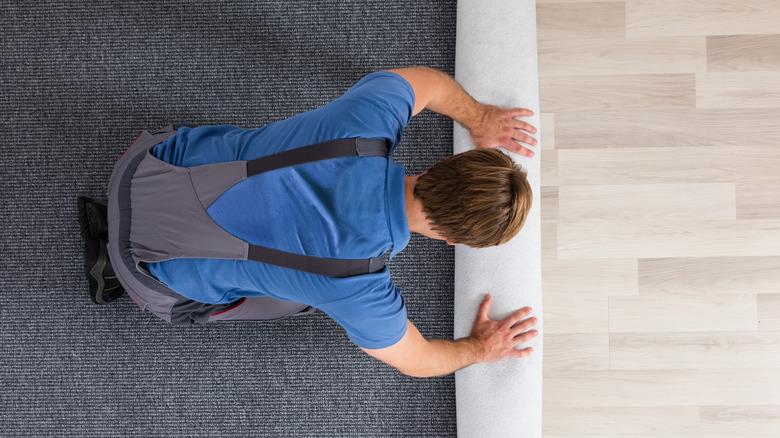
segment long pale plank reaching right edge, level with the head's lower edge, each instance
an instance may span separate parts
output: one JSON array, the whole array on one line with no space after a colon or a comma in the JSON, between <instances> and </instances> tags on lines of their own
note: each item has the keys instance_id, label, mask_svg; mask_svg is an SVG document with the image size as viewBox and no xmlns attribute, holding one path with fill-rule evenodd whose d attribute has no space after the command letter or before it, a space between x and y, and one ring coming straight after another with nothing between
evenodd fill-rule
<instances>
[{"instance_id":1,"label":"long pale plank reaching right edge, level with the head's lower edge","mask_svg":"<svg viewBox=\"0 0 780 438\"><path fill-rule=\"evenodd\" d=\"M780 255L780 221L588 221L558 224L558 258Z\"/></svg>"}]
</instances>

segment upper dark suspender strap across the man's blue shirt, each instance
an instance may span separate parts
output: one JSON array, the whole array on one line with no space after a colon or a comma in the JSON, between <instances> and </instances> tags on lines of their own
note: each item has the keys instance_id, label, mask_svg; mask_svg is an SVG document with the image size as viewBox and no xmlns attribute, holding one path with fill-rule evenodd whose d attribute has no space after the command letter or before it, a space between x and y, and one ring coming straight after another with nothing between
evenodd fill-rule
<instances>
[{"instance_id":1,"label":"upper dark suspender strap across the man's blue shirt","mask_svg":"<svg viewBox=\"0 0 780 438\"><path fill-rule=\"evenodd\" d=\"M331 158L386 157L387 149L384 139L339 138L247 161L246 176Z\"/></svg>"}]
</instances>

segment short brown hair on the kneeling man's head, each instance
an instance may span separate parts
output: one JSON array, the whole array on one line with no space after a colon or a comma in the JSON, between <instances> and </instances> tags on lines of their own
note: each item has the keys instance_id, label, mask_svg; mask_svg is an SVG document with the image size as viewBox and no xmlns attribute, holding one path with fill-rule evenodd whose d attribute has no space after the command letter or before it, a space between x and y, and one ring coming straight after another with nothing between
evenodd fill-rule
<instances>
[{"instance_id":1,"label":"short brown hair on the kneeling man's head","mask_svg":"<svg viewBox=\"0 0 780 438\"><path fill-rule=\"evenodd\" d=\"M475 248L508 242L523 227L533 194L526 172L496 149L447 157L414 188L431 228Z\"/></svg>"}]
</instances>

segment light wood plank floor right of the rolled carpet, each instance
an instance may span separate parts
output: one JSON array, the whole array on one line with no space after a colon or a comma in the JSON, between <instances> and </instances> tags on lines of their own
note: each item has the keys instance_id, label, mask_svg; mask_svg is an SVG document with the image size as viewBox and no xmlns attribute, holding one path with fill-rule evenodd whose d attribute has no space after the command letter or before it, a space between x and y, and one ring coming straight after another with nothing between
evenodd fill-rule
<instances>
[{"instance_id":1,"label":"light wood plank floor right of the rolled carpet","mask_svg":"<svg viewBox=\"0 0 780 438\"><path fill-rule=\"evenodd\" d=\"M780 1L537 5L544 436L780 437Z\"/></svg>"}]
</instances>

